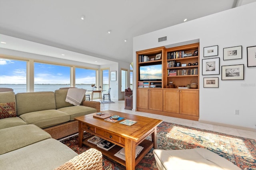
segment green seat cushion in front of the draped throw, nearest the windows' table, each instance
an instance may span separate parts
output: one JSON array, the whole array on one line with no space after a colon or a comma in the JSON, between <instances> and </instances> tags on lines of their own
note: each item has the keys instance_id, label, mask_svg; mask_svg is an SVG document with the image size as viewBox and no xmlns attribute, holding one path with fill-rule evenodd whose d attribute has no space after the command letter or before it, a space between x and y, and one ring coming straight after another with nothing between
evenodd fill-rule
<instances>
[{"instance_id":1,"label":"green seat cushion in front of the draped throw, nearest the windows' table","mask_svg":"<svg viewBox=\"0 0 256 170\"><path fill-rule=\"evenodd\" d=\"M68 113L68 115L70 115L70 120L74 120L75 117L97 112L97 109L87 106L62 107L58 110Z\"/></svg>"}]
</instances>

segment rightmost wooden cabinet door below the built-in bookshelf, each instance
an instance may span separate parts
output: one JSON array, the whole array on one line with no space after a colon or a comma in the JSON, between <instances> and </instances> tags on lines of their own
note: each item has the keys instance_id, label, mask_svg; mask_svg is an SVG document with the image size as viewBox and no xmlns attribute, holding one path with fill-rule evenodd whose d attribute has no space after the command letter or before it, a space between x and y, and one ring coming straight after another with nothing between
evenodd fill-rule
<instances>
[{"instance_id":1,"label":"rightmost wooden cabinet door below the built-in bookshelf","mask_svg":"<svg viewBox=\"0 0 256 170\"><path fill-rule=\"evenodd\" d=\"M199 91L180 90L180 114L199 116Z\"/></svg>"}]
</instances>

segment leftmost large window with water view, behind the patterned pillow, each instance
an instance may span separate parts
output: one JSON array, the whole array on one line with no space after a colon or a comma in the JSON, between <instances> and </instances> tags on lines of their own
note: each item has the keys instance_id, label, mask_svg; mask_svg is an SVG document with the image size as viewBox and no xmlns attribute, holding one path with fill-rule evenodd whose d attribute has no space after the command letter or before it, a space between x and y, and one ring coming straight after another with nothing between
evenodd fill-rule
<instances>
[{"instance_id":1,"label":"leftmost large window with water view, behind the patterned pillow","mask_svg":"<svg viewBox=\"0 0 256 170\"><path fill-rule=\"evenodd\" d=\"M15 93L27 92L28 61L0 59L0 87L12 88Z\"/></svg>"}]
</instances>

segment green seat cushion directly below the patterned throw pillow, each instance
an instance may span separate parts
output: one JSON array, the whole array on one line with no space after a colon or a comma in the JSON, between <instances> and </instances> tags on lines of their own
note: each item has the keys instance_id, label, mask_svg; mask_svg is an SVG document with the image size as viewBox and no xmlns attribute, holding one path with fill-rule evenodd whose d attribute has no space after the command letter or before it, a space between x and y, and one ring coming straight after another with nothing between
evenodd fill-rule
<instances>
[{"instance_id":1,"label":"green seat cushion directly below the patterned throw pillow","mask_svg":"<svg viewBox=\"0 0 256 170\"><path fill-rule=\"evenodd\" d=\"M27 123L20 117L8 117L5 119L0 119L0 129L14 127L19 125L26 125Z\"/></svg>"}]
</instances>

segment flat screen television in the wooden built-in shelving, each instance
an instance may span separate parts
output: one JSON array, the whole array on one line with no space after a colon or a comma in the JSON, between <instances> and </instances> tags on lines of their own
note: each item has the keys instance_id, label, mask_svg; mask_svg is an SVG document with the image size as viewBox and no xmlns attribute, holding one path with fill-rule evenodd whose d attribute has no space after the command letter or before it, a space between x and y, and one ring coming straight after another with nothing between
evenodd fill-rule
<instances>
[{"instance_id":1,"label":"flat screen television in the wooden built-in shelving","mask_svg":"<svg viewBox=\"0 0 256 170\"><path fill-rule=\"evenodd\" d=\"M162 64L139 66L139 81L162 81Z\"/></svg>"}]
</instances>

